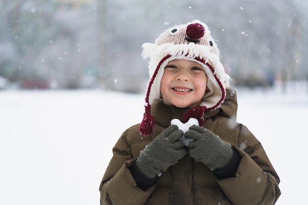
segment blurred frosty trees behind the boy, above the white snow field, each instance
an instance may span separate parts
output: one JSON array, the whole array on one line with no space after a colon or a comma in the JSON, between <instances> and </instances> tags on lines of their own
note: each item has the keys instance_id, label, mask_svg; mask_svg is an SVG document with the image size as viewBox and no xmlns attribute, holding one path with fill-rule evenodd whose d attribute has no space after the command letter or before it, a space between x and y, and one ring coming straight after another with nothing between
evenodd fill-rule
<instances>
[{"instance_id":1,"label":"blurred frosty trees behind the boy, above the white snow field","mask_svg":"<svg viewBox=\"0 0 308 205\"><path fill-rule=\"evenodd\" d=\"M0 0L0 89L144 92L141 45L194 19L234 85L308 81L307 0Z\"/></svg>"}]
</instances>

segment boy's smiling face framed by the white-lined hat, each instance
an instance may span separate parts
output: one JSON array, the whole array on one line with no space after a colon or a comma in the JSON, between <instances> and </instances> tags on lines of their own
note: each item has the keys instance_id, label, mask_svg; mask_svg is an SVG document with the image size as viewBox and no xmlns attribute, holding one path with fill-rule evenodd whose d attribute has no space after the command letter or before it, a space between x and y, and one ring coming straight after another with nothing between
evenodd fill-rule
<instances>
[{"instance_id":1,"label":"boy's smiling face framed by the white-lined hat","mask_svg":"<svg viewBox=\"0 0 308 205\"><path fill-rule=\"evenodd\" d=\"M203 67L192 60L174 59L164 69L160 83L163 102L178 108L199 106L208 80Z\"/></svg>"}]
</instances>

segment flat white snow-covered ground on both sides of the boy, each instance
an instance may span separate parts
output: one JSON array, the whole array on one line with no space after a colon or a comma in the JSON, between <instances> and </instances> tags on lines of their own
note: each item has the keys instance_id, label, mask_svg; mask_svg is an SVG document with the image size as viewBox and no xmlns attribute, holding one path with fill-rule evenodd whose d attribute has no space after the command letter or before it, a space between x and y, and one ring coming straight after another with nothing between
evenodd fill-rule
<instances>
[{"instance_id":1,"label":"flat white snow-covered ground on both sides of the boy","mask_svg":"<svg viewBox=\"0 0 308 205\"><path fill-rule=\"evenodd\" d=\"M238 90L238 121L261 141L280 176L277 205L303 204L307 194L308 92L299 85L286 93ZM142 119L143 98L0 91L0 205L99 205L112 146Z\"/></svg>"}]
</instances>

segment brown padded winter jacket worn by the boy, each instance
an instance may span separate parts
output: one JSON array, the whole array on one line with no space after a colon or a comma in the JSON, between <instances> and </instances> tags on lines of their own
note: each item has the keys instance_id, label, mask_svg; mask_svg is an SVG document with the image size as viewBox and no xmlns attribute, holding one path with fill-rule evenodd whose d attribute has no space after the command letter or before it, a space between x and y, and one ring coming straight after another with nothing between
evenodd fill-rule
<instances>
[{"instance_id":1,"label":"brown padded winter jacket worn by the boy","mask_svg":"<svg viewBox=\"0 0 308 205\"><path fill-rule=\"evenodd\" d=\"M260 142L235 121L236 93L228 90L221 108L205 113L204 126L234 146L242 157L236 175L219 179L213 171L187 154L143 191L136 186L129 167L141 150L170 126L182 120L187 109L167 106L161 100L152 105L155 117L152 135L139 133L139 124L128 128L113 148L113 157L99 191L102 205L274 205L280 195L279 178Z\"/></svg>"}]
</instances>

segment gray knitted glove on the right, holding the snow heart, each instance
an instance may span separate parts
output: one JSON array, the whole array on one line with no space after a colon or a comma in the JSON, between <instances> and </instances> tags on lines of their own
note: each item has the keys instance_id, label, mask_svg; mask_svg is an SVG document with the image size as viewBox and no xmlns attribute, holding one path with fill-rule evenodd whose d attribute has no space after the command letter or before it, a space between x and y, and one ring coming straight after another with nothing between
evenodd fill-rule
<instances>
[{"instance_id":1,"label":"gray knitted glove on the right, holding the snow heart","mask_svg":"<svg viewBox=\"0 0 308 205\"><path fill-rule=\"evenodd\" d=\"M188 145L190 156L211 170L223 168L233 157L230 144L204 127L195 125L189 127L185 132L185 138L193 140Z\"/></svg>"}]
</instances>

